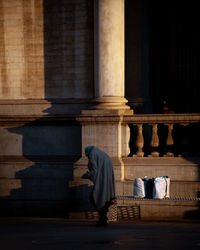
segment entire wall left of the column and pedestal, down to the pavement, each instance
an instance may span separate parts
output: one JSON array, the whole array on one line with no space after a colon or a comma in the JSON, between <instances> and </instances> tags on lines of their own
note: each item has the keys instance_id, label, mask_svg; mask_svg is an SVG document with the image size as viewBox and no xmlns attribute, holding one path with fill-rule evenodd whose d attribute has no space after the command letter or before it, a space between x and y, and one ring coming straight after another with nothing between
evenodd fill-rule
<instances>
[{"instance_id":1,"label":"entire wall left of the column and pedestal, down to the pavement","mask_svg":"<svg viewBox=\"0 0 200 250\"><path fill-rule=\"evenodd\" d=\"M93 1L0 1L1 214L67 216L93 98Z\"/></svg>"}]
</instances>

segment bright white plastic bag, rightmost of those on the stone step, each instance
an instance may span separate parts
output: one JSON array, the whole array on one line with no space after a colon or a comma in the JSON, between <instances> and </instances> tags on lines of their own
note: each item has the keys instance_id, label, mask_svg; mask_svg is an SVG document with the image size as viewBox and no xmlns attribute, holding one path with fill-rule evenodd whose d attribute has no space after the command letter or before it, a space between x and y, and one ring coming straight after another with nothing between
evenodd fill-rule
<instances>
[{"instance_id":1,"label":"bright white plastic bag, rightmost of those on the stone step","mask_svg":"<svg viewBox=\"0 0 200 250\"><path fill-rule=\"evenodd\" d=\"M169 184L169 178L164 178L163 176L156 177L153 185L153 198L163 199L169 197Z\"/></svg>"}]
</instances>

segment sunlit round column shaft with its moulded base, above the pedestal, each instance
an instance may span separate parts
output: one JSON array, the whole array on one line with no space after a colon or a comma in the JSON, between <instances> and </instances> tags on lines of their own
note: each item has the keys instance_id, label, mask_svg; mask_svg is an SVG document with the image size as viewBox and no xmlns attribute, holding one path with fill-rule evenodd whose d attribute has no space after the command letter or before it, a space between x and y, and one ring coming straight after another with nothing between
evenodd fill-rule
<instances>
[{"instance_id":1,"label":"sunlit round column shaft with its moulded base, above the pedestal","mask_svg":"<svg viewBox=\"0 0 200 250\"><path fill-rule=\"evenodd\" d=\"M124 98L124 0L95 0L96 109L129 109Z\"/></svg>"}]
</instances>

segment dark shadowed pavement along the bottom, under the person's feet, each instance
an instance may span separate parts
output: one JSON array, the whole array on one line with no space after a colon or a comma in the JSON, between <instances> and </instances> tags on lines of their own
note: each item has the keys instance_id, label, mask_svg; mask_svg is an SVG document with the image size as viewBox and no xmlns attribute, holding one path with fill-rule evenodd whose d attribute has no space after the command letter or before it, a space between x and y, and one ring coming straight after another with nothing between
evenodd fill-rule
<instances>
[{"instance_id":1,"label":"dark shadowed pavement along the bottom, under the person's feet","mask_svg":"<svg viewBox=\"0 0 200 250\"><path fill-rule=\"evenodd\" d=\"M200 223L0 218L0 250L199 249Z\"/></svg>"}]
</instances>

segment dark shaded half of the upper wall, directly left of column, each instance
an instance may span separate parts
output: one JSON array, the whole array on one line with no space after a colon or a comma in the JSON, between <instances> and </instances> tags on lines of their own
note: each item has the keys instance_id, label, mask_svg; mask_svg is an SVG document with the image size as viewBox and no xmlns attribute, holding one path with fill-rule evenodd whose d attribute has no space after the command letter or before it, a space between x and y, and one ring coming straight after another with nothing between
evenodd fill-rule
<instances>
[{"instance_id":1,"label":"dark shaded half of the upper wall, directly left of column","mask_svg":"<svg viewBox=\"0 0 200 250\"><path fill-rule=\"evenodd\" d=\"M46 98L93 97L93 1L44 1Z\"/></svg>"}]
</instances>

